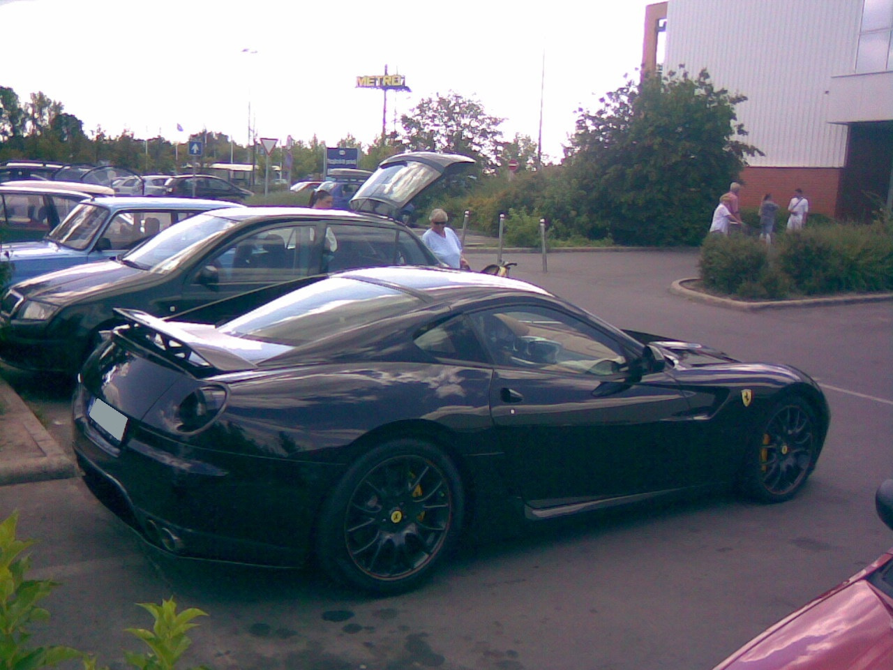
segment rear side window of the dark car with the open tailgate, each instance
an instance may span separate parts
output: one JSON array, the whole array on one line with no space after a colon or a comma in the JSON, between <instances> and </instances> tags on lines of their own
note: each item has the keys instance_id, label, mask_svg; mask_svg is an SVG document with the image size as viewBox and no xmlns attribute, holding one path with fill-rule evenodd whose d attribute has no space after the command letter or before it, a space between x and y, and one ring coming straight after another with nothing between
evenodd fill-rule
<instances>
[{"instance_id":1,"label":"rear side window of the dark car with the open tailgate","mask_svg":"<svg viewBox=\"0 0 893 670\"><path fill-rule=\"evenodd\" d=\"M326 229L323 272L398 263L399 230L377 226L338 225Z\"/></svg>"}]
</instances>

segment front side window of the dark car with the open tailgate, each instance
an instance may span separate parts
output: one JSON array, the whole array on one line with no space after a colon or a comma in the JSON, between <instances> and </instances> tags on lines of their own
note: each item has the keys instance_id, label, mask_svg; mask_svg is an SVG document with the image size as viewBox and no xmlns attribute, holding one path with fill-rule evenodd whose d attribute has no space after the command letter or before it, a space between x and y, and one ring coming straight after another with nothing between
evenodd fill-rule
<instances>
[{"instance_id":1,"label":"front side window of the dark car with the open tailgate","mask_svg":"<svg viewBox=\"0 0 893 670\"><path fill-rule=\"evenodd\" d=\"M280 226L239 239L217 254L210 264L221 282L270 282L305 277L316 230L310 226Z\"/></svg>"}]
</instances>

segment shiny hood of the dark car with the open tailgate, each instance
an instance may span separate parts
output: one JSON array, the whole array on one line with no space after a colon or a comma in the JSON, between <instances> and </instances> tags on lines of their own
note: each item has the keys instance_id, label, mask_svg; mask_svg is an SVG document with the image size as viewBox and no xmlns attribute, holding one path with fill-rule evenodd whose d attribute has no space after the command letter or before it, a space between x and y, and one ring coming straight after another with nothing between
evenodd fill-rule
<instances>
[{"instance_id":1,"label":"shiny hood of the dark car with the open tailgate","mask_svg":"<svg viewBox=\"0 0 893 670\"><path fill-rule=\"evenodd\" d=\"M40 274L13 284L12 288L22 297L40 298L62 305L75 298L95 296L112 287L116 292L121 292L124 287L134 289L142 283L154 283L159 276L117 261L99 261Z\"/></svg>"}]
</instances>

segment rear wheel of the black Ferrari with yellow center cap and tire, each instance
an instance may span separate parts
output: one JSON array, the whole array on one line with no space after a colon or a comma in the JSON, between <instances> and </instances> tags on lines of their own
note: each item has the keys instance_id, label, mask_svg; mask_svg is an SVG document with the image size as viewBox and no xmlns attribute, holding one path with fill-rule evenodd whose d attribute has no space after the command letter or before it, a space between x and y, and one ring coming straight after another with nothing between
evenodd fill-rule
<instances>
[{"instance_id":1,"label":"rear wheel of the black Ferrari with yellow center cap and tire","mask_svg":"<svg viewBox=\"0 0 893 670\"><path fill-rule=\"evenodd\" d=\"M455 548L464 513L455 465L392 440L351 465L322 507L316 557L338 582L378 595L413 589Z\"/></svg>"}]
</instances>

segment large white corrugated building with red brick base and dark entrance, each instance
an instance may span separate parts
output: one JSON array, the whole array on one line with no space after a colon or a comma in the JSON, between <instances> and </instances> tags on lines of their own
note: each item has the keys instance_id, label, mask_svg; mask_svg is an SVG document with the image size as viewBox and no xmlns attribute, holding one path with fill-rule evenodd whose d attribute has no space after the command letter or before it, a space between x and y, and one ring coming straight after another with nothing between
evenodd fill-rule
<instances>
[{"instance_id":1,"label":"large white corrugated building with red brick base and dark entrance","mask_svg":"<svg viewBox=\"0 0 893 670\"><path fill-rule=\"evenodd\" d=\"M657 26L663 63L656 63ZM643 69L706 69L764 152L742 205L803 188L814 212L893 204L893 0L669 0L648 7Z\"/></svg>"}]
</instances>

